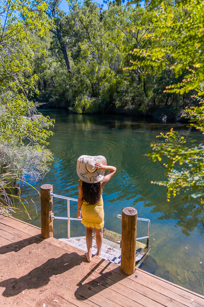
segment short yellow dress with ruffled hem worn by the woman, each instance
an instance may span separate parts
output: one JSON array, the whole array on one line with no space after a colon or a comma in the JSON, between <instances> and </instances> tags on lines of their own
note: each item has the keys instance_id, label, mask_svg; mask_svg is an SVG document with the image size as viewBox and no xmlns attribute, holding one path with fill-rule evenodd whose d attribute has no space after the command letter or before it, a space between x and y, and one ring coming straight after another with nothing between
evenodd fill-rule
<instances>
[{"instance_id":1,"label":"short yellow dress with ruffled hem worn by the woman","mask_svg":"<svg viewBox=\"0 0 204 307\"><path fill-rule=\"evenodd\" d=\"M104 211L102 195L96 205L82 203L82 224L85 227L101 229L104 226Z\"/></svg>"}]
</instances>

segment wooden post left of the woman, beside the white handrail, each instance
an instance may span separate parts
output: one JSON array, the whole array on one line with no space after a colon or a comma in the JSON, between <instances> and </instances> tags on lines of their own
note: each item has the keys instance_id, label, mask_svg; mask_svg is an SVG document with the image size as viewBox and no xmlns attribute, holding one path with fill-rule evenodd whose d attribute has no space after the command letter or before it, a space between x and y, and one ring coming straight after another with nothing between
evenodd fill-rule
<instances>
[{"instance_id":1,"label":"wooden post left of the woman, beside the white handrail","mask_svg":"<svg viewBox=\"0 0 204 307\"><path fill-rule=\"evenodd\" d=\"M40 187L41 195L41 237L44 239L53 237L52 213L52 192L51 184L44 184Z\"/></svg>"}]
</instances>

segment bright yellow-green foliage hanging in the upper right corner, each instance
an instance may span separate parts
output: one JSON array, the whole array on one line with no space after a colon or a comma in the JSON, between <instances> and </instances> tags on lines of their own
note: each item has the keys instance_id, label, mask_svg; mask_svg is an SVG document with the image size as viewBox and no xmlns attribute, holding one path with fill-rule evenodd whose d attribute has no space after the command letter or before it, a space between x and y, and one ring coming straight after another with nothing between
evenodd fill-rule
<instances>
[{"instance_id":1,"label":"bright yellow-green foliage hanging in the upper right corner","mask_svg":"<svg viewBox=\"0 0 204 307\"><path fill-rule=\"evenodd\" d=\"M146 65L157 72L166 68L166 58L170 57L170 70L175 77L185 73L182 82L172 84L165 93L179 93L183 95L189 91L200 91L203 82L204 58L204 1L161 3L151 13L152 23L149 33L145 36L152 42L149 48L136 48L132 52L135 59L133 68ZM171 58L172 57L172 58Z\"/></svg>"}]
</instances>

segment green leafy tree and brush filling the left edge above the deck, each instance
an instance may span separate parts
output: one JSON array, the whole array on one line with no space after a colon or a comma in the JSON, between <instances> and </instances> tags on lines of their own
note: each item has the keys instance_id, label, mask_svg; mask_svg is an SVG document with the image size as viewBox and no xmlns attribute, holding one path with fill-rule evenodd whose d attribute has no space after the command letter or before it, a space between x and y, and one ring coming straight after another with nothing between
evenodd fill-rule
<instances>
[{"instance_id":1,"label":"green leafy tree and brush filling the left edge above the deck","mask_svg":"<svg viewBox=\"0 0 204 307\"><path fill-rule=\"evenodd\" d=\"M51 27L39 2L5 0L0 2L0 206L12 209L18 196L12 193L12 181L25 173L37 177L47 171L51 153L45 149L53 121L36 110L32 101L36 75L31 62L38 54L30 32L42 36ZM19 189L18 189L19 190Z\"/></svg>"}]
</instances>

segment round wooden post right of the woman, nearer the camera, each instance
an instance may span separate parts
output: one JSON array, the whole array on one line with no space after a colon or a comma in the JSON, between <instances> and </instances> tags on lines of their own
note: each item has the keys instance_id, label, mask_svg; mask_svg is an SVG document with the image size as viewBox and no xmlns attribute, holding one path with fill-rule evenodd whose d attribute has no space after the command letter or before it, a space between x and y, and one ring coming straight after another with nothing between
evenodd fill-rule
<instances>
[{"instance_id":1,"label":"round wooden post right of the woman, nearer the camera","mask_svg":"<svg viewBox=\"0 0 204 307\"><path fill-rule=\"evenodd\" d=\"M137 211L127 207L122 211L122 240L120 270L131 275L136 268L136 221Z\"/></svg>"}]
</instances>

